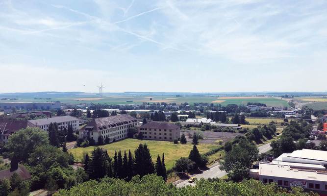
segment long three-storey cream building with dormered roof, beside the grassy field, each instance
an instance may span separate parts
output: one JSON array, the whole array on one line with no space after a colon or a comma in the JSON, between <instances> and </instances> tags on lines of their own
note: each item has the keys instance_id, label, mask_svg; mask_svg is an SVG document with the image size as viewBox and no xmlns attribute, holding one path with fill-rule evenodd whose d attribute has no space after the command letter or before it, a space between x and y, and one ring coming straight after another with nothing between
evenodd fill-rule
<instances>
[{"instance_id":1,"label":"long three-storey cream building with dormered roof, beside the grassy field","mask_svg":"<svg viewBox=\"0 0 327 196\"><path fill-rule=\"evenodd\" d=\"M139 122L128 114L93 119L78 131L79 139L93 138L98 142L100 136L109 138L110 142L128 137L128 129Z\"/></svg>"}]
</instances>

